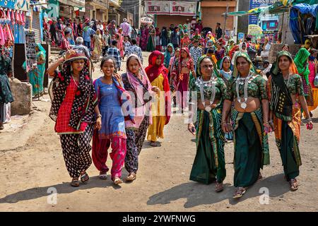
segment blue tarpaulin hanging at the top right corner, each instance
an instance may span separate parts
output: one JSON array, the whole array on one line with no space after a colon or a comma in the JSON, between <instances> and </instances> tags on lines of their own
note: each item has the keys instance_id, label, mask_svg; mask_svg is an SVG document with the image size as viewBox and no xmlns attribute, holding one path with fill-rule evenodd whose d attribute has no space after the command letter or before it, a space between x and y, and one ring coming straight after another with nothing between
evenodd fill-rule
<instances>
[{"instance_id":1,"label":"blue tarpaulin hanging at the top right corner","mask_svg":"<svg viewBox=\"0 0 318 226\"><path fill-rule=\"evenodd\" d=\"M291 8L290 10L290 30L293 33L293 37L295 40L295 44L301 44L302 42L305 42L305 33L302 31L302 29L299 26L298 23L298 12L301 14L310 14L314 18L316 18L316 30L318 30L318 4L309 5L309 4L296 4Z\"/></svg>"}]
</instances>

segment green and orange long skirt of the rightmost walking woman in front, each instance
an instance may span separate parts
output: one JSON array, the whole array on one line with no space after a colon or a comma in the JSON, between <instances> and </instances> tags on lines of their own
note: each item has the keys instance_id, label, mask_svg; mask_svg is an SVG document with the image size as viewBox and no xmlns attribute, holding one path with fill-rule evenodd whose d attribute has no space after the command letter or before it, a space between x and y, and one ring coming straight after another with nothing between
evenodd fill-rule
<instances>
[{"instance_id":1,"label":"green and orange long skirt of the rightmost walking woman in front","mask_svg":"<svg viewBox=\"0 0 318 226\"><path fill-rule=\"evenodd\" d=\"M276 145L287 181L295 179L299 175L299 167L302 165L298 143L300 141L300 106L293 106L293 119L283 121L277 117L273 118L275 126Z\"/></svg>"}]
</instances>

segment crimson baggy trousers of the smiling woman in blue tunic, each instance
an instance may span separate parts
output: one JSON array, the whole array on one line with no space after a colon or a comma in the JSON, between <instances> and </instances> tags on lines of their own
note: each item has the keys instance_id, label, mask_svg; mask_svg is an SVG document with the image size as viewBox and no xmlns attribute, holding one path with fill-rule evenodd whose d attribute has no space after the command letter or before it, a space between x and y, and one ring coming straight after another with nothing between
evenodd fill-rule
<instances>
[{"instance_id":1,"label":"crimson baggy trousers of the smiling woman in blue tunic","mask_svg":"<svg viewBox=\"0 0 318 226\"><path fill-rule=\"evenodd\" d=\"M112 180L115 177L122 177L122 166L126 156L126 138L120 138L113 136L110 139L100 139L98 136L98 130L94 130L93 134L93 148L92 157L95 167L100 172L108 172L109 168L106 165L108 157L108 148L112 145L112 153L110 158L112 159Z\"/></svg>"}]
</instances>

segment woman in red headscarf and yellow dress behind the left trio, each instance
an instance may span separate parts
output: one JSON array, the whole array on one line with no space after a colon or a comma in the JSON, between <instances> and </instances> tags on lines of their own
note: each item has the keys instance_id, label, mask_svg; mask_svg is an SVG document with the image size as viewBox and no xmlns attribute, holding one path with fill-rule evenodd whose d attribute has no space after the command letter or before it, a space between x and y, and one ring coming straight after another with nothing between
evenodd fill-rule
<instances>
[{"instance_id":1,"label":"woman in red headscarf and yellow dress behind the left trio","mask_svg":"<svg viewBox=\"0 0 318 226\"><path fill-rule=\"evenodd\" d=\"M171 114L170 85L163 59L161 52L152 52L149 56L149 66L145 69L151 85L160 89L160 93L152 103L153 124L149 126L147 136L154 147L158 146L157 138L164 138L163 127L169 123Z\"/></svg>"}]
</instances>

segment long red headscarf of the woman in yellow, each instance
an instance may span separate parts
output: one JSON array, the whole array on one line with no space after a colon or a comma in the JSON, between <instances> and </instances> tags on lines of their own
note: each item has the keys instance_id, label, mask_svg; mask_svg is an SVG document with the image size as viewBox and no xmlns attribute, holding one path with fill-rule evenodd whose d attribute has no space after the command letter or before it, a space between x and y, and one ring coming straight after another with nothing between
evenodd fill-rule
<instances>
[{"instance_id":1,"label":"long red headscarf of the woman in yellow","mask_svg":"<svg viewBox=\"0 0 318 226\"><path fill-rule=\"evenodd\" d=\"M155 64L155 60L161 56L160 65ZM163 65L163 60L165 59L163 53L158 50L152 52L149 56L149 66L146 67L145 71L149 78L149 81L152 83L155 78L158 78L160 74L163 75L163 90L165 91L165 124L168 124L171 115L171 98L170 98L170 85L167 78L167 69Z\"/></svg>"}]
</instances>

